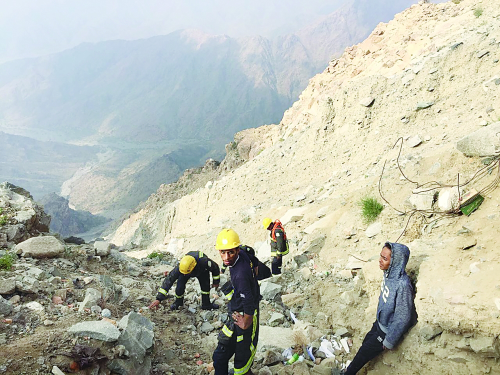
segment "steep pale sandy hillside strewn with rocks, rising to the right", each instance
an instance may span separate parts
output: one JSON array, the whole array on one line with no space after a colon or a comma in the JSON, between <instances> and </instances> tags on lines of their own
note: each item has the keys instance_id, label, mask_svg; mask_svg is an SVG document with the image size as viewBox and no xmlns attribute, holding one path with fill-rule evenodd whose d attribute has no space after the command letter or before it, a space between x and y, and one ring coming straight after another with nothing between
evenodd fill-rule
<instances>
[{"instance_id":1,"label":"steep pale sandy hillside strewn with rocks, rising to the right","mask_svg":"<svg viewBox=\"0 0 500 375\"><path fill-rule=\"evenodd\" d=\"M230 226L265 259L261 219L281 218L285 268L303 280L284 282L281 299L307 295L304 316L352 328L355 349L376 307L373 259L399 240L411 250L419 321L372 373L500 373L499 15L493 0L421 1L379 24L312 78L279 124L259 128L247 162L173 202L160 189L108 239L215 256L216 233ZM485 198L470 216L456 214L457 184ZM384 209L368 226L358 202L379 189ZM294 271L300 254L308 260Z\"/></svg>"}]
</instances>

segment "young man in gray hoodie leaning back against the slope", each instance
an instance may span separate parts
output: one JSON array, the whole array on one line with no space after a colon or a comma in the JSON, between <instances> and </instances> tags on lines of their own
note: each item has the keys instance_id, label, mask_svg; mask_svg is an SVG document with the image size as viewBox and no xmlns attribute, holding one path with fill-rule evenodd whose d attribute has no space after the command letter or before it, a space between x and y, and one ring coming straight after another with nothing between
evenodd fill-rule
<instances>
[{"instance_id":1,"label":"young man in gray hoodie leaning back against the slope","mask_svg":"<svg viewBox=\"0 0 500 375\"><path fill-rule=\"evenodd\" d=\"M391 350L409 327L416 323L415 294L406 274L409 249L401 243L385 242L378 265L383 271L376 320L344 375L354 375L383 350Z\"/></svg>"}]
</instances>

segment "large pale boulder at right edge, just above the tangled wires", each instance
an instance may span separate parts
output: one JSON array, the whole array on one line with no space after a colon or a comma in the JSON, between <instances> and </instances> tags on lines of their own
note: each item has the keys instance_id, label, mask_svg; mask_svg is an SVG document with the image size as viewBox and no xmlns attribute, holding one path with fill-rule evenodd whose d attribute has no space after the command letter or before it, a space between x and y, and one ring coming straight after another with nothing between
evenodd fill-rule
<instances>
[{"instance_id":1,"label":"large pale boulder at right edge, just above the tangled wires","mask_svg":"<svg viewBox=\"0 0 500 375\"><path fill-rule=\"evenodd\" d=\"M500 122L484 126L456 142L456 148L467 156L492 156L500 150Z\"/></svg>"}]
</instances>

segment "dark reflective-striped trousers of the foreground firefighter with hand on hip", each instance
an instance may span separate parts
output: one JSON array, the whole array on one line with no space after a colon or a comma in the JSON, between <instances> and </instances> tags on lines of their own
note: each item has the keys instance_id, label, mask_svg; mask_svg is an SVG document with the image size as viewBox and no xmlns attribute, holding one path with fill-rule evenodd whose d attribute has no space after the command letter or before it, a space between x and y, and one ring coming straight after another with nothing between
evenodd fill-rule
<instances>
[{"instance_id":1,"label":"dark reflective-striped trousers of the foreground firefighter with hand on hip","mask_svg":"<svg viewBox=\"0 0 500 375\"><path fill-rule=\"evenodd\" d=\"M250 367L253 363L258 341L258 315L258 310L255 310L252 325L245 330L235 324L228 323L222 327L218 337L219 342L212 355L215 375L227 375L229 359L233 354L234 375L252 373ZM229 334L230 336L228 336Z\"/></svg>"}]
</instances>

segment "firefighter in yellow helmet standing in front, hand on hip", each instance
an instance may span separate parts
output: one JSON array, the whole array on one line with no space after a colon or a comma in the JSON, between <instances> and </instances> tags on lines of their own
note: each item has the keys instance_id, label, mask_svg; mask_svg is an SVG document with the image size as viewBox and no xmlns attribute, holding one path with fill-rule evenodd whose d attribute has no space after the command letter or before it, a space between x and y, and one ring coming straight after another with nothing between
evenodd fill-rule
<instances>
[{"instance_id":1,"label":"firefighter in yellow helmet standing in front, hand on hip","mask_svg":"<svg viewBox=\"0 0 500 375\"><path fill-rule=\"evenodd\" d=\"M234 230L223 229L218 233L215 248L229 268L232 290L226 294L228 317L212 356L215 375L228 374L233 354L234 375L253 373L250 367L257 349L259 324L260 288L255 266L258 260L251 253L241 251L239 245L239 236Z\"/></svg>"}]
</instances>

